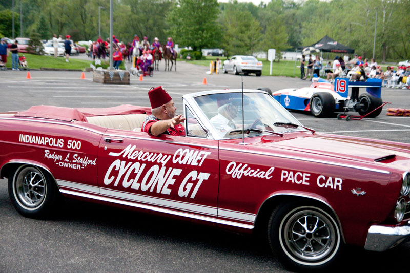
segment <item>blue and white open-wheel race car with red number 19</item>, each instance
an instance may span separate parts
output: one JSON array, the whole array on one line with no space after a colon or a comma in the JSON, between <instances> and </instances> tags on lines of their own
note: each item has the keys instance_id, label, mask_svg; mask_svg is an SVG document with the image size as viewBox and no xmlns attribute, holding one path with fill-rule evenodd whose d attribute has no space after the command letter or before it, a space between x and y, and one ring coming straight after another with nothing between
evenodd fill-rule
<instances>
[{"instance_id":1,"label":"blue and white open-wheel race car with red number 19","mask_svg":"<svg viewBox=\"0 0 410 273\"><path fill-rule=\"evenodd\" d=\"M336 78L334 85L327 82L313 82L310 87L287 88L273 92L273 97L288 110L310 111L315 117L330 117L335 112L338 117L346 113L358 112L361 116L377 117L383 107L381 99L381 79L348 81ZM352 89L348 96L348 88ZM359 95L359 89L366 92Z\"/></svg>"}]
</instances>

